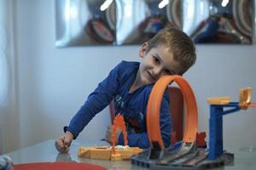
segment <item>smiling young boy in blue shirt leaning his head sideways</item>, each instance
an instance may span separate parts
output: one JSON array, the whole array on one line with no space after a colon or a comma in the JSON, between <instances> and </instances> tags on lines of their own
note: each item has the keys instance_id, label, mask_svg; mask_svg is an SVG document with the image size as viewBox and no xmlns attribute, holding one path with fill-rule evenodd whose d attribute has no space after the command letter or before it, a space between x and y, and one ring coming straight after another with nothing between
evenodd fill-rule
<instances>
[{"instance_id":1,"label":"smiling young boy in blue shirt leaning his head sideways","mask_svg":"<svg viewBox=\"0 0 256 170\"><path fill-rule=\"evenodd\" d=\"M154 82L164 75L183 75L195 64L195 46L191 39L176 28L165 28L139 50L141 62L122 61L99 83L84 105L73 116L65 134L55 140L60 152L67 152L73 139L114 99L116 114L124 116L128 144L148 148L146 115L148 97ZM165 146L170 144L172 117L170 99L164 94L160 109L160 130ZM111 144L112 128L108 127L106 140ZM124 144L123 134L116 132L116 144Z\"/></svg>"}]
</instances>

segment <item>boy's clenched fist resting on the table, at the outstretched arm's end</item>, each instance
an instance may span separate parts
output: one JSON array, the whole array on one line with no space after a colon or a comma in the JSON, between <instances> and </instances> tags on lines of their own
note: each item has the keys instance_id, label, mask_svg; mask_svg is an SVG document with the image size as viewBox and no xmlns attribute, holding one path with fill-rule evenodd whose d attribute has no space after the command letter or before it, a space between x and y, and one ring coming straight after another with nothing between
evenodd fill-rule
<instances>
[{"instance_id":1,"label":"boy's clenched fist resting on the table, at the outstretched arm's end","mask_svg":"<svg viewBox=\"0 0 256 170\"><path fill-rule=\"evenodd\" d=\"M73 140L73 133L66 132L63 136L55 140L55 148L61 153L67 153Z\"/></svg>"}]
</instances>

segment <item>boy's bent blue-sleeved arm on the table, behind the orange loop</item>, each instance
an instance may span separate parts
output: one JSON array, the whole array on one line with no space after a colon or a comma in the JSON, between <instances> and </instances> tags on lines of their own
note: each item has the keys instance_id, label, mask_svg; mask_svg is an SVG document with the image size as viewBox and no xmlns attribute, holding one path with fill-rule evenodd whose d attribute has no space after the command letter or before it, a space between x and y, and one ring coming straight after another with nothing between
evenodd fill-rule
<instances>
[{"instance_id":1,"label":"boy's bent blue-sleeved arm on the table, behind the orange loop","mask_svg":"<svg viewBox=\"0 0 256 170\"><path fill-rule=\"evenodd\" d=\"M165 147L171 144L172 117L170 113L169 97L165 94L160 109L160 131ZM150 147L148 133L130 133L128 134L128 145L140 148ZM119 135L119 144L125 144L123 133Z\"/></svg>"}]
</instances>

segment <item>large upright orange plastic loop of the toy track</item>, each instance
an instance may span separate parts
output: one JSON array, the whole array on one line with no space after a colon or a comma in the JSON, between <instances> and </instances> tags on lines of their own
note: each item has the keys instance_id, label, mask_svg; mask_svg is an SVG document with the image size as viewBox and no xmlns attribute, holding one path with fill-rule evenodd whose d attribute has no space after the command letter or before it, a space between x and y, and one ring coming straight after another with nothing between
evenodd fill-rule
<instances>
[{"instance_id":1,"label":"large upright orange plastic loop of the toy track","mask_svg":"<svg viewBox=\"0 0 256 170\"><path fill-rule=\"evenodd\" d=\"M148 139L153 149L154 143L158 143L161 150L165 148L164 142L160 134L160 105L163 98L163 94L165 93L167 86L171 82L176 82L178 87L181 89L183 93L184 103L186 106L187 115L185 131L183 135L183 142L194 143L196 140L196 133L198 128L198 111L195 100L195 94L193 93L193 90L190 87L189 83L183 77L177 75L164 76L161 77L160 80L158 80L154 84L154 87L148 99Z\"/></svg>"}]
</instances>

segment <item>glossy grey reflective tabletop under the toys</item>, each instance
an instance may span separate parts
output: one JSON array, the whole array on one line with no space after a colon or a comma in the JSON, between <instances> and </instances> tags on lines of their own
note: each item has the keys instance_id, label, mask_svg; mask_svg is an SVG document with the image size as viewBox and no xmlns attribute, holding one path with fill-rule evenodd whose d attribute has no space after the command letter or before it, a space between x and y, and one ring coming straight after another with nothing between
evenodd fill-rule
<instances>
[{"instance_id":1,"label":"glossy grey reflective tabletop under the toys","mask_svg":"<svg viewBox=\"0 0 256 170\"><path fill-rule=\"evenodd\" d=\"M82 142L73 141L71 149L67 154L61 154L55 150L55 140L47 140L39 144L26 147L21 150L15 150L6 154L9 156L14 164L20 163L33 163L33 162L55 162L55 161L74 161L84 162L100 165L108 169L137 169L146 170L146 167L138 167L131 164L131 161L106 161L106 160L95 160L78 157L78 150L80 146L101 146L108 145L104 141L97 142ZM231 153L234 153L235 160L233 165L220 167L218 169L224 170L255 170L256 169L256 147L234 147L230 148Z\"/></svg>"}]
</instances>

